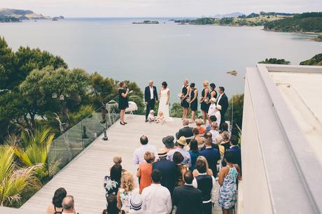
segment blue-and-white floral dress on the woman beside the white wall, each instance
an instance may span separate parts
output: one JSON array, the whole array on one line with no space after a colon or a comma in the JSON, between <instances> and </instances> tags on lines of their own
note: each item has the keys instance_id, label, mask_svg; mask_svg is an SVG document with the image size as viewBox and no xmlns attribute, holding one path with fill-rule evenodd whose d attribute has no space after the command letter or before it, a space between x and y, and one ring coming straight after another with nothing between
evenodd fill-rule
<instances>
[{"instance_id":1,"label":"blue-and-white floral dress on the woman beside the white wall","mask_svg":"<svg viewBox=\"0 0 322 214\"><path fill-rule=\"evenodd\" d=\"M237 201L237 176L238 171L234 165L229 169L219 189L218 204L226 210L233 208Z\"/></svg>"}]
</instances>

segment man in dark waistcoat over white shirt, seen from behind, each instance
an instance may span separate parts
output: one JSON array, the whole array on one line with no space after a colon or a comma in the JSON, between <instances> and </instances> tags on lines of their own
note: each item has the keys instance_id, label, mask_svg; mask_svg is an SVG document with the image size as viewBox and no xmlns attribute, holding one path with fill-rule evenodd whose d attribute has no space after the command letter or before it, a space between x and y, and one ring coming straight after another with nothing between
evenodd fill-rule
<instances>
[{"instance_id":1,"label":"man in dark waistcoat over white shirt, seen from behind","mask_svg":"<svg viewBox=\"0 0 322 214\"><path fill-rule=\"evenodd\" d=\"M207 168L204 162L198 160L196 169L199 175L193 180L193 187L202 191L202 211L204 214L211 214L212 204L216 199L216 180L214 176L207 175Z\"/></svg>"}]
</instances>

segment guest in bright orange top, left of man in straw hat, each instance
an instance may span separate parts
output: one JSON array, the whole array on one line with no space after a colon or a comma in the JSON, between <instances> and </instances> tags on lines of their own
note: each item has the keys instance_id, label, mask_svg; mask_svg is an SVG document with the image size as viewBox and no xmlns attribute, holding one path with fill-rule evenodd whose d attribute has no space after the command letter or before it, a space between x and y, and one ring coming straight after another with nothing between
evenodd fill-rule
<instances>
[{"instance_id":1,"label":"guest in bright orange top, left of man in straw hat","mask_svg":"<svg viewBox=\"0 0 322 214\"><path fill-rule=\"evenodd\" d=\"M151 185L151 173L152 173L152 164L155 160L154 154L152 152L146 152L144 154L144 159L146 162L142 162L137 171L137 177L140 180L140 194L145 187Z\"/></svg>"}]
</instances>

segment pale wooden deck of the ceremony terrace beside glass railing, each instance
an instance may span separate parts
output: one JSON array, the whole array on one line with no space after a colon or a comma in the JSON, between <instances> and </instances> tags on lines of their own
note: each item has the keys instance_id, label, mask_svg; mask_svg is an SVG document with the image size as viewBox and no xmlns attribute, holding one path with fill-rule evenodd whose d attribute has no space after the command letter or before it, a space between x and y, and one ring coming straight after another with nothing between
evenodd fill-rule
<instances>
[{"instance_id":1,"label":"pale wooden deck of the ceremony terrace beside glass railing","mask_svg":"<svg viewBox=\"0 0 322 214\"><path fill-rule=\"evenodd\" d=\"M135 175L137 166L133 163L133 152L141 145L140 136L143 134L148 136L151 145L161 148L164 146L162 138L174 135L182 126L179 118L174 118L173 122L167 124L150 124L144 122L144 116L141 115L128 116L127 122L125 126L116 122L107 131L109 141L102 141L102 136L99 136L21 209L45 212L55 190L64 187L67 194L73 195L78 213L102 213L106 207L103 178L109 174L113 157L121 156L123 168ZM221 209L217 206L214 210L216 212L213 213L221 213Z\"/></svg>"}]
</instances>

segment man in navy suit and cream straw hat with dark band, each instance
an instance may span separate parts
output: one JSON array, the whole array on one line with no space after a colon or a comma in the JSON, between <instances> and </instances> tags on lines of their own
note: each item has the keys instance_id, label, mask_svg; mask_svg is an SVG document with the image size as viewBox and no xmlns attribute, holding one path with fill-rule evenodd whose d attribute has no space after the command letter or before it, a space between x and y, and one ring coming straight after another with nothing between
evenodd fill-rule
<instances>
[{"instance_id":1,"label":"man in navy suit and cream straw hat with dark band","mask_svg":"<svg viewBox=\"0 0 322 214\"><path fill-rule=\"evenodd\" d=\"M174 191L174 180L176 174L176 164L167 160L167 149L162 148L158 152L159 161L153 163L153 169L160 170L162 174L161 185L167 187L172 194Z\"/></svg>"}]
</instances>

